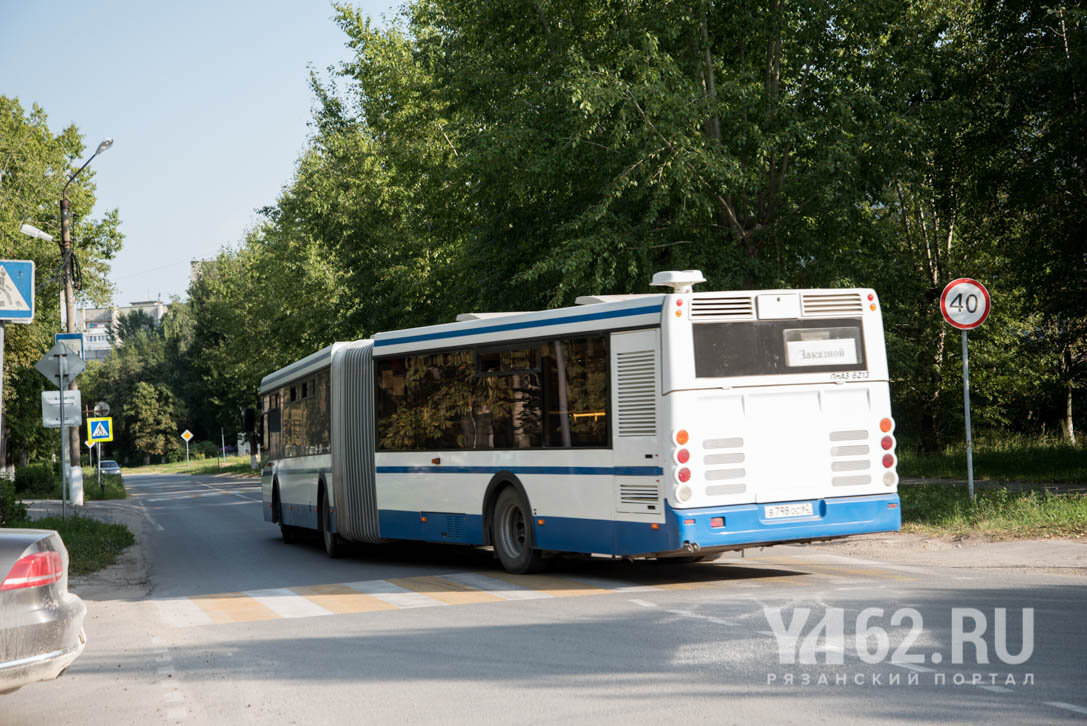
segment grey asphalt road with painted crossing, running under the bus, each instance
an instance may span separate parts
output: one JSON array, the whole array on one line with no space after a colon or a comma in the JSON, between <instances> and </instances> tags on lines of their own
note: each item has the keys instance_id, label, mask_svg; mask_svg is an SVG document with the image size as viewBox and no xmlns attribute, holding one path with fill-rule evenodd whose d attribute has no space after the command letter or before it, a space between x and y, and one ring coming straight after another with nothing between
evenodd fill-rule
<instances>
[{"instance_id":1,"label":"grey asphalt road with painted crossing, running under the bus","mask_svg":"<svg viewBox=\"0 0 1087 726\"><path fill-rule=\"evenodd\" d=\"M1082 577L811 547L696 565L563 561L525 577L489 552L437 546L329 560L316 540L283 543L257 480L126 484L149 587L80 593L86 651L58 681L0 697L0 724L1087 719ZM955 609L985 616L988 663L970 643L951 662ZM1029 658L1001 662L999 647L1004 660L1022 650L1024 609ZM959 617L961 631L977 625ZM859 650L865 627L888 634L886 655L875 634Z\"/></svg>"}]
</instances>

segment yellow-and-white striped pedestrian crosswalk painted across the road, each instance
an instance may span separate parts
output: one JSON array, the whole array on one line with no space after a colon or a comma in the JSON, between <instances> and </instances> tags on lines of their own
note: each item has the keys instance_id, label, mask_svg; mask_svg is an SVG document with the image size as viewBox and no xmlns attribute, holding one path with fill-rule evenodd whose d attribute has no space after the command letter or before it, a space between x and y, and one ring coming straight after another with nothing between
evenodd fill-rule
<instances>
[{"instance_id":1,"label":"yellow-and-white striped pedestrian crosswalk painted across the road","mask_svg":"<svg viewBox=\"0 0 1087 726\"><path fill-rule=\"evenodd\" d=\"M812 585L811 576L825 583L826 578L845 574L837 572L840 568L827 572L760 572L759 568L751 567L745 568L748 576L737 583L735 572L732 568L725 569L727 572L717 573L712 567L699 567L691 573L684 568L676 574L642 577L642 581L579 574L511 575L504 572L465 572L163 598L155 602L165 623L174 627L191 627L412 608L727 588L733 585L752 587L788 584L807 587ZM901 579L899 573L873 567L863 571L850 568L849 574L862 575L869 579Z\"/></svg>"}]
</instances>

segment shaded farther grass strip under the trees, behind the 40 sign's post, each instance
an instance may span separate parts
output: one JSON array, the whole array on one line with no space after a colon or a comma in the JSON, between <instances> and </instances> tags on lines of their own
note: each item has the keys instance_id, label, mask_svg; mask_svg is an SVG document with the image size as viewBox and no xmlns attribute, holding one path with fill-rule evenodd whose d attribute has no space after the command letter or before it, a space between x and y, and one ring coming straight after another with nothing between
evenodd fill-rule
<instances>
[{"instance_id":1,"label":"shaded farther grass strip under the trees, behind the 40 sign's post","mask_svg":"<svg viewBox=\"0 0 1087 726\"><path fill-rule=\"evenodd\" d=\"M898 452L903 477L965 479L966 449L949 447L936 454ZM979 481L1087 483L1087 447L1025 437L982 439L974 445L974 478Z\"/></svg>"}]
</instances>

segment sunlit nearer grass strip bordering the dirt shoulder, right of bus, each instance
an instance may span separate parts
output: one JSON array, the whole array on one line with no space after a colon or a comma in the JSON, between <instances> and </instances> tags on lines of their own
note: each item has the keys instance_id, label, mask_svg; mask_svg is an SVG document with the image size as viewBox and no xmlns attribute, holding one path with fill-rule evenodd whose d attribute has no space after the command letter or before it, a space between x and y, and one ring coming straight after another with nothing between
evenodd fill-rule
<instances>
[{"instance_id":1,"label":"sunlit nearer grass strip bordering the dirt shoulder, right of bus","mask_svg":"<svg viewBox=\"0 0 1087 726\"><path fill-rule=\"evenodd\" d=\"M971 504L965 487L900 487L902 531L996 539L1087 536L1087 495L983 487Z\"/></svg>"}]
</instances>

